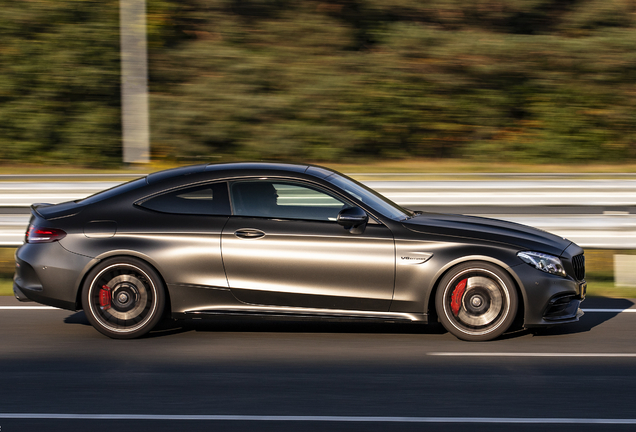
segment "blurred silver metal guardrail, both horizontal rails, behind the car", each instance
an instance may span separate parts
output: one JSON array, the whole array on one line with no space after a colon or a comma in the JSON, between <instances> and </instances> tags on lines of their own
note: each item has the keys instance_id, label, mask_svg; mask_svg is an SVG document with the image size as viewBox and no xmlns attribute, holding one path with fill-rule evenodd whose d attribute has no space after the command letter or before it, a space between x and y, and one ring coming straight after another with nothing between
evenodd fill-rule
<instances>
[{"instance_id":1,"label":"blurred silver metal guardrail, both horizontal rails, behind the car","mask_svg":"<svg viewBox=\"0 0 636 432\"><path fill-rule=\"evenodd\" d=\"M68 175L64 175L68 176ZM0 181L0 246L22 244L29 216L26 208L34 202L58 203L75 200L115 186L121 181ZM115 175L119 176L120 175ZM133 176L133 175L131 175ZM138 175L134 175L138 177ZM68 178L68 177L66 177ZM94 176L90 178L95 179ZM0 176L2 179L2 176ZM636 249L636 180L456 180L456 181L365 181L383 195L407 207L455 206L462 213L497 217L535 226L566 237L583 247ZM523 215L505 214L510 207L597 206L625 208L609 214ZM13 214L2 214L2 208ZM498 211L497 208L501 208Z\"/></svg>"}]
</instances>

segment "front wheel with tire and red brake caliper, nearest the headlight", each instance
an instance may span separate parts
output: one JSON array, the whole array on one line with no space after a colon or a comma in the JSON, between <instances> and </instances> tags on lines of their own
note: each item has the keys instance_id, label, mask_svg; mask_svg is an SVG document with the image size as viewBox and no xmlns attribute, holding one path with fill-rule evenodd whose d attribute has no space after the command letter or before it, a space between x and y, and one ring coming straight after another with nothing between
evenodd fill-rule
<instances>
[{"instance_id":1,"label":"front wheel with tire and red brake caliper, nearest the headlight","mask_svg":"<svg viewBox=\"0 0 636 432\"><path fill-rule=\"evenodd\" d=\"M446 330L466 341L501 336L517 314L517 290L500 267L480 261L452 268L435 295L439 320Z\"/></svg>"}]
</instances>

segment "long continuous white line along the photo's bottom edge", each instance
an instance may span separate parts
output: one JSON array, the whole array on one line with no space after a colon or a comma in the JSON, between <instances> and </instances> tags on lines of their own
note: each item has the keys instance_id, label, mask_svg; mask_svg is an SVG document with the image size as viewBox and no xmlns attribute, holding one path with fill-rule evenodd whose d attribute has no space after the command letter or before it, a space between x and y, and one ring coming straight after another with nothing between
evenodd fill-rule
<instances>
[{"instance_id":1,"label":"long continuous white line along the photo's bottom edge","mask_svg":"<svg viewBox=\"0 0 636 432\"><path fill-rule=\"evenodd\" d=\"M373 423L500 423L500 424L636 424L633 418L551 417L384 417L384 416L293 416L293 415L169 415L169 414L40 414L0 413L0 419L45 420L204 420L262 422L373 422Z\"/></svg>"}]
</instances>

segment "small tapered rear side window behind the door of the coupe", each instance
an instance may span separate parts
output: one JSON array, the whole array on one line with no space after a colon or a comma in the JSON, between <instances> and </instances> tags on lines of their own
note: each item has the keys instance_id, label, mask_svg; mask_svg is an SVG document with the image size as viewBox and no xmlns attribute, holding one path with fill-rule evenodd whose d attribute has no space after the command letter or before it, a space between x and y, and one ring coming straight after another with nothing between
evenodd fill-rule
<instances>
[{"instance_id":1,"label":"small tapered rear side window behind the door of the coupe","mask_svg":"<svg viewBox=\"0 0 636 432\"><path fill-rule=\"evenodd\" d=\"M162 213L195 215L229 215L227 183L193 186L167 192L138 203Z\"/></svg>"}]
</instances>

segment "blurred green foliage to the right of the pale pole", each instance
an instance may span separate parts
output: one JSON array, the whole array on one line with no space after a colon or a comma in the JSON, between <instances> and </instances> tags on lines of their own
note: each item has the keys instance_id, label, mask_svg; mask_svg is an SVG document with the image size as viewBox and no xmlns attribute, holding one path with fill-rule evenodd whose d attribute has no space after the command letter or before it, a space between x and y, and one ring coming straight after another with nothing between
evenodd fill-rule
<instances>
[{"instance_id":1,"label":"blurred green foliage to the right of the pale pole","mask_svg":"<svg viewBox=\"0 0 636 432\"><path fill-rule=\"evenodd\" d=\"M636 157L627 1L197 1L153 53L164 154ZM178 79L175 80L175 77Z\"/></svg>"}]
</instances>

